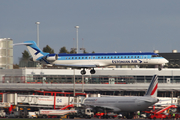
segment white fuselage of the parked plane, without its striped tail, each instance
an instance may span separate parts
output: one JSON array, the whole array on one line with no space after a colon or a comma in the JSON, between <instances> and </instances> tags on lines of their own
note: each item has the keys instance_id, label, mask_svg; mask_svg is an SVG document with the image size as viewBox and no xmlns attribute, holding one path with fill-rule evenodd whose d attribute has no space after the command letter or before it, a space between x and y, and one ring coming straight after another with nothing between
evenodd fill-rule
<instances>
[{"instance_id":1,"label":"white fuselage of the parked plane, without its striped tail","mask_svg":"<svg viewBox=\"0 0 180 120\"><path fill-rule=\"evenodd\" d=\"M90 97L84 100L85 105L107 108L113 112L135 112L145 110L148 106L158 102L150 96L118 96L118 97Z\"/></svg>"}]
</instances>

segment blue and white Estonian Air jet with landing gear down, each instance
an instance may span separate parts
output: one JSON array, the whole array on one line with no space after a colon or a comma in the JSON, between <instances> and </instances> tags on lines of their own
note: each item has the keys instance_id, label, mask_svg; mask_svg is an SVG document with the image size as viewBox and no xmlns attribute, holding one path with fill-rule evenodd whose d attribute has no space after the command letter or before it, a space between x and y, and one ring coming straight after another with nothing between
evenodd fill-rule
<instances>
[{"instance_id":1,"label":"blue and white Estonian Air jet with landing gear down","mask_svg":"<svg viewBox=\"0 0 180 120\"><path fill-rule=\"evenodd\" d=\"M85 69L91 68L90 73L95 74L95 67L109 65L159 65L161 70L165 63L163 57L156 53L89 53L89 54L50 54L42 52L34 41L25 41L14 45L26 45L33 57L33 61L49 66L63 66L83 68L81 74L86 74Z\"/></svg>"}]
</instances>

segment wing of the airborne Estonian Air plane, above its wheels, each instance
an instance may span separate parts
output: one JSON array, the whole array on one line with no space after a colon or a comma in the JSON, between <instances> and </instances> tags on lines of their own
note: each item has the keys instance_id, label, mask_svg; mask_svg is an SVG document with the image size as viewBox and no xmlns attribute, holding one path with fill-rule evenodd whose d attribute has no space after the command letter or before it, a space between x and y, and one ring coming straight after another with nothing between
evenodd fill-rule
<instances>
[{"instance_id":1,"label":"wing of the airborne Estonian Air plane, above its wheels","mask_svg":"<svg viewBox=\"0 0 180 120\"><path fill-rule=\"evenodd\" d=\"M69 64L53 64L55 66L72 67L72 68L94 68L97 65L69 65Z\"/></svg>"}]
</instances>

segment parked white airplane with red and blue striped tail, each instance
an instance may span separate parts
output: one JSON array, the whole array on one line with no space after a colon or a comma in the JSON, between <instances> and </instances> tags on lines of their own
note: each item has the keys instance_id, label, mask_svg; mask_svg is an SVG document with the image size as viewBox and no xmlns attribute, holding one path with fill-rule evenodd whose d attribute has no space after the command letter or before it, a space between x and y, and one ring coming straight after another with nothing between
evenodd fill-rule
<instances>
[{"instance_id":1,"label":"parked white airplane with red and blue striped tail","mask_svg":"<svg viewBox=\"0 0 180 120\"><path fill-rule=\"evenodd\" d=\"M93 108L95 112L123 113L126 118L132 118L133 112L145 110L159 101L157 88L158 77L154 75L144 96L89 97L82 105Z\"/></svg>"}]
</instances>

